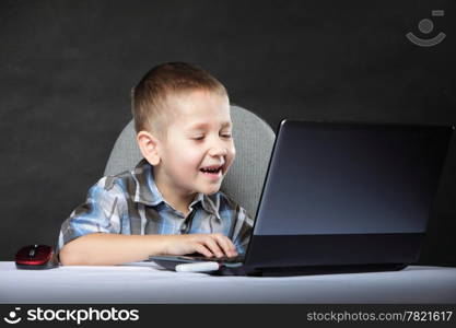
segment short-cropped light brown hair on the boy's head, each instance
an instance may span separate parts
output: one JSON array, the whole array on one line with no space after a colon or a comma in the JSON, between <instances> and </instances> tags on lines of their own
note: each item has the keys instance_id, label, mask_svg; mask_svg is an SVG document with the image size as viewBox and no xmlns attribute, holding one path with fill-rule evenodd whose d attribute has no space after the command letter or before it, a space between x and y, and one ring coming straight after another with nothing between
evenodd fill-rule
<instances>
[{"instance_id":1,"label":"short-cropped light brown hair on the boy's head","mask_svg":"<svg viewBox=\"0 0 456 328\"><path fill-rule=\"evenodd\" d=\"M222 83L195 65L165 62L151 69L131 90L136 131L145 130L166 139L166 127L173 119L167 97L195 90L227 95Z\"/></svg>"}]
</instances>

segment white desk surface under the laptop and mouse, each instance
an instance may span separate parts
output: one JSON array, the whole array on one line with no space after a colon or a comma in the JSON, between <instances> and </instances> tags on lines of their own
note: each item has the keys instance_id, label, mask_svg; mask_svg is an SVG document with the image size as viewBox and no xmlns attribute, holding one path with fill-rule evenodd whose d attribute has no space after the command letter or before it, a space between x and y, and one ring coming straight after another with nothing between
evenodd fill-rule
<instances>
[{"instance_id":1,"label":"white desk surface under the laptop and mouse","mask_svg":"<svg viewBox=\"0 0 456 328\"><path fill-rule=\"evenodd\" d=\"M256 278L169 272L153 262L44 271L0 262L0 303L456 303L456 268Z\"/></svg>"}]
</instances>

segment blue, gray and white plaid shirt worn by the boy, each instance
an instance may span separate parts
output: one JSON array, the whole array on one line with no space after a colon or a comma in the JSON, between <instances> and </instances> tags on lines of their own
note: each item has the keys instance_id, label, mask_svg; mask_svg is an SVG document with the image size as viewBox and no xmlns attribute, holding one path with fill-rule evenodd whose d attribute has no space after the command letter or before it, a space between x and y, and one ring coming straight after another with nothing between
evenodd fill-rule
<instances>
[{"instance_id":1,"label":"blue, gray and white plaid shirt worn by the boy","mask_svg":"<svg viewBox=\"0 0 456 328\"><path fill-rule=\"evenodd\" d=\"M153 167L142 160L131 172L100 179L87 199L61 225L58 254L65 244L91 233L125 235L220 233L244 254L253 220L219 191L197 194L187 218L173 209L156 188Z\"/></svg>"}]
</instances>

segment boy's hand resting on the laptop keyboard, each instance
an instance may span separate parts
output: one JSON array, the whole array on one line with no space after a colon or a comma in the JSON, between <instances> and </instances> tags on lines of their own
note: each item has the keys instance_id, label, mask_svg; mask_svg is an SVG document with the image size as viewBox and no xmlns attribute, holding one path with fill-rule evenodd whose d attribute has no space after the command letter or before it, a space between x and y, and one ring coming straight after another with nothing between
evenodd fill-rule
<instances>
[{"instance_id":1,"label":"boy's hand resting on the laptop keyboard","mask_svg":"<svg viewBox=\"0 0 456 328\"><path fill-rule=\"evenodd\" d=\"M166 255L186 255L200 253L206 257L234 257L236 247L229 237L222 234L169 235L166 243Z\"/></svg>"}]
</instances>

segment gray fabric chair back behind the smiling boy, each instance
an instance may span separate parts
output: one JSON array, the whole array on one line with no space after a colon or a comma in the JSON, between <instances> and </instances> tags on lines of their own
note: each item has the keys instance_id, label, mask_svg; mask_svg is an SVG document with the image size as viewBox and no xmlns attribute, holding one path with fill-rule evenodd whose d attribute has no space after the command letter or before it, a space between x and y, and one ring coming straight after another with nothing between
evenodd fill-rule
<instances>
[{"instance_id":1,"label":"gray fabric chair back behind the smiling boy","mask_svg":"<svg viewBox=\"0 0 456 328\"><path fill-rule=\"evenodd\" d=\"M231 106L236 159L223 179L221 190L255 219L276 134L254 113ZM105 176L132 169L142 159L131 120L121 131L105 168Z\"/></svg>"}]
</instances>

